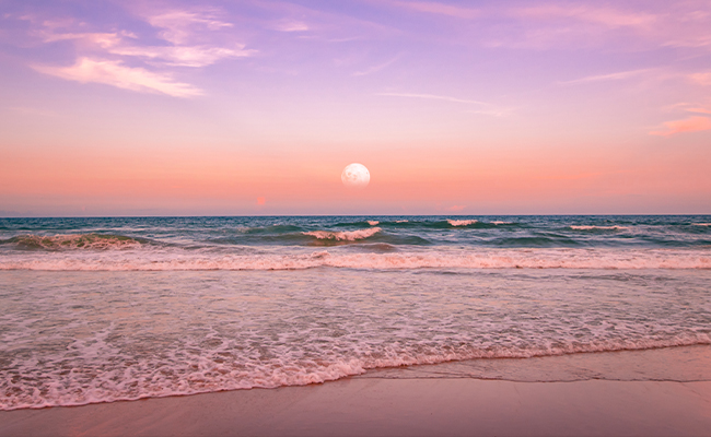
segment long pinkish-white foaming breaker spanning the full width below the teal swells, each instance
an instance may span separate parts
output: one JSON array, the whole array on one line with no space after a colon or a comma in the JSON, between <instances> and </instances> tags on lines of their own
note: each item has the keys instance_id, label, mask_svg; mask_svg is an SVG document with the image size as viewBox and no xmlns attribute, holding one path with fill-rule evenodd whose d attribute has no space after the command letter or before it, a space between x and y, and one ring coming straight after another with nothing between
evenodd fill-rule
<instances>
[{"instance_id":1,"label":"long pinkish-white foaming breaker spanning the full width below the teal swells","mask_svg":"<svg viewBox=\"0 0 711 437\"><path fill-rule=\"evenodd\" d=\"M327 236L325 238L328 238ZM335 238L335 237L334 237ZM301 270L347 269L711 269L708 250L685 249L481 249L369 252L320 250L291 253L159 250L0 253L0 270ZM393 247L394 249L394 247ZM375 251L375 252L373 252Z\"/></svg>"}]
</instances>

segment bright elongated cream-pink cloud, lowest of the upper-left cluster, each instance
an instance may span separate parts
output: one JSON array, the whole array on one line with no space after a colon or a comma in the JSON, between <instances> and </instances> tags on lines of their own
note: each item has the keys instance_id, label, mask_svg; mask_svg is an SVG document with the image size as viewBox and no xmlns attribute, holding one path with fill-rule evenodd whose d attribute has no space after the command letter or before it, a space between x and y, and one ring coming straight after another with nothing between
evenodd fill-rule
<instances>
[{"instance_id":1,"label":"bright elongated cream-pink cloud, lowest of the upper-left cluster","mask_svg":"<svg viewBox=\"0 0 711 437\"><path fill-rule=\"evenodd\" d=\"M124 90L162 93L173 97L202 95L201 90L187 83L175 82L167 74L126 67L120 61L80 58L71 67L33 66L33 68L42 73L82 83L103 83Z\"/></svg>"}]
</instances>

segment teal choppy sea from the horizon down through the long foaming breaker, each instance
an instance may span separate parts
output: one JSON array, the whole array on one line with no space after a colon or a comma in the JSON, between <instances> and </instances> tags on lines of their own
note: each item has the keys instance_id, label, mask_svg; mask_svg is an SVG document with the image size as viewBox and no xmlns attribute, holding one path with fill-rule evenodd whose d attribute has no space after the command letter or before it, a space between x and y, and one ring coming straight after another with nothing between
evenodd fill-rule
<instances>
[{"instance_id":1,"label":"teal choppy sea from the horizon down through the long foaming breaker","mask_svg":"<svg viewBox=\"0 0 711 437\"><path fill-rule=\"evenodd\" d=\"M711 268L711 216L2 218L3 270Z\"/></svg>"}]
</instances>

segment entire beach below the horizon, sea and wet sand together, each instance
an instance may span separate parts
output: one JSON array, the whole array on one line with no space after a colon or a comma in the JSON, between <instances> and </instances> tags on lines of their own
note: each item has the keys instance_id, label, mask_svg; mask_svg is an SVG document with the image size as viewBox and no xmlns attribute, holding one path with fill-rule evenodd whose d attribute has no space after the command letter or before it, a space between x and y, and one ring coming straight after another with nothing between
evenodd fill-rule
<instances>
[{"instance_id":1,"label":"entire beach below the horizon, sea and wet sand together","mask_svg":"<svg viewBox=\"0 0 711 437\"><path fill-rule=\"evenodd\" d=\"M0 434L708 434L709 223L5 218Z\"/></svg>"}]
</instances>

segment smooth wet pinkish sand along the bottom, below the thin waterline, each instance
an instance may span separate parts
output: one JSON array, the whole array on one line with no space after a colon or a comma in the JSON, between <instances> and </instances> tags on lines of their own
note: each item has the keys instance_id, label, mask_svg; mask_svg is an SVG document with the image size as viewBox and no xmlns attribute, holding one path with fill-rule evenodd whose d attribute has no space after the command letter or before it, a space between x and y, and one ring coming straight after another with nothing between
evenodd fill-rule
<instances>
[{"instance_id":1,"label":"smooth wet pinkish sand along the bottom, below the thin waterline","mask_svg":"<svg viewBox=\"0 0 711 437\"><path fill-rule=\"evenodd\" d=\"M349 378L0 412L1 436L708 436L711 381Z\"/></svg>"}]
</instances>

